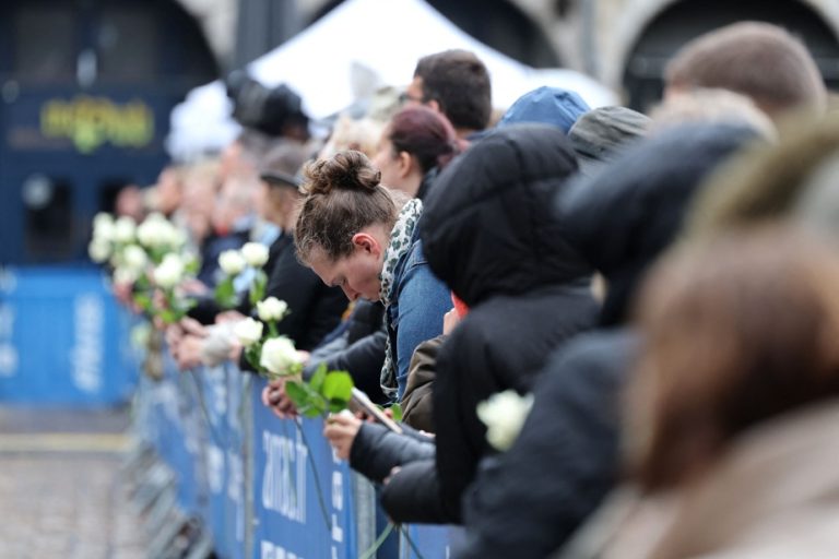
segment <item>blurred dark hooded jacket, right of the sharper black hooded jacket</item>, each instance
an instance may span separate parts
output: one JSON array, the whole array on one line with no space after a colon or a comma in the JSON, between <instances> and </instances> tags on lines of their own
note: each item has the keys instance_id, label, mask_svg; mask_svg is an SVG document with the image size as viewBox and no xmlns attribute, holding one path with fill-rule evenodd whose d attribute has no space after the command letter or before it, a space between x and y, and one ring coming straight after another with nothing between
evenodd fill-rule
<instances>
[{"instance_id":1,"label":"blurred dark hooded jacket, right of the sharper black hooded jacket","mask_svg":"<svg viewBox=\"0 0 839 559\"><path fill-rule=\"evenodd\" d=\"M560 194L569 238L608 282L603 322L623 321L702 179L752 138L742 128L680 128ZM466 491L454 557L545 557L596 508L617 477L618 392L637 348L627 328L599 330L551 359L520 437Z\"/></svg>"}]
</instances>

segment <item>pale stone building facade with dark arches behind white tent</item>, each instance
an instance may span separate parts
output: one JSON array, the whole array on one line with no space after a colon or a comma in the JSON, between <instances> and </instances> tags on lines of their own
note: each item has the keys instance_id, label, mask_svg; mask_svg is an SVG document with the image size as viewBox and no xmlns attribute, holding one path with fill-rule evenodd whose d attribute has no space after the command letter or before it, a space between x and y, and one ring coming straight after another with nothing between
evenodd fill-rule
<instances>
[{"instance_id":1,"label":"pale stone building facade with dark arches behind white tent","mask_svg":"<svg viewBox=\"0 0 839 559\"><path fill-rule=\"evenodd\" d=\"M220 60L233 66L279 45L341 3L340 0L180 1L202 22ZM621 92L627 104L641 109L660 95L663 67L684 43L740 20L761 20L785 26L807 44L828 84L839 80L839 0L429 0L429 3L478 40L531 66L562 66L583 71ZM244 29L247 33L243 33ZM218 33L222 35L215 37Z\"/></svg>"}]
</instances>

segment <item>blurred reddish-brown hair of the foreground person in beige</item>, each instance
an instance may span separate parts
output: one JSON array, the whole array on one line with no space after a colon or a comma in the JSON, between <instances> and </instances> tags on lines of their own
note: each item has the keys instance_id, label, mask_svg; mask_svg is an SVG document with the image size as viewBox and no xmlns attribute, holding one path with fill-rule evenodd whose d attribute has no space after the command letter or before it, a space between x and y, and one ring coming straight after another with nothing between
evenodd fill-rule
<instances>
[{"instance_id":1,"label":"blurred reddish-brown hair of the foreground person in beige","mask_svg":"<svg viewBox=\"0 0 839 559\"><path fill-rule=\"evenodd\" d=\"M839 259L801 233L752 230L666 259L639 306L631 473L655 491L756 424L839 395Z\"/></svg>"}]
</instances>

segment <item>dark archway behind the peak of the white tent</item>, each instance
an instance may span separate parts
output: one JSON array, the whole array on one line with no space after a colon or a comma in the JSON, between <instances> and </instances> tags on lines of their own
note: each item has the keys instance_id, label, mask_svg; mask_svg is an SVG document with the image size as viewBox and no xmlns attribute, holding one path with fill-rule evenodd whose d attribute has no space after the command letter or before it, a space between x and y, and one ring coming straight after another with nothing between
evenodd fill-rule
<instances>
[{"instance_id":1,"label":"dark archway behind the peak of the white tent","mask_svg":"<svg viewBox=\"0 0 839 559\"><path fill-rule=\"evenodd\" d=\"M340 0L327 3L309 24ZM556 68L562 60L542 29L507 0L428 0L435 10L481 43L534 68Z\"/></svg>"}]
</instances>

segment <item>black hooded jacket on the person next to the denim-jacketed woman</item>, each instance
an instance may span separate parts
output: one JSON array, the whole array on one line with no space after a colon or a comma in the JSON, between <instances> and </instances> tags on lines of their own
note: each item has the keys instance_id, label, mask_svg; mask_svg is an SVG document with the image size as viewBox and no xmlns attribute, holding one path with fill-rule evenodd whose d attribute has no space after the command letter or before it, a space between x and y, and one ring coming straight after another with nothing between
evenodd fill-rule
<instances>
[{"instance_id":1,"label":"black hooded jacket on the person next to the denim-jacketed woman","mask_svg":"<svg viewBox=\"0 0 839 559\"><path fill-rule=\"evenodd\" d=\"M461 493L493 452L478 402L530 391L551 350L594 323L590 269L551 212L576 169L562 132L529 124L488 134L437 179L423 214L424 250L470 312L437 359L436 459L403 466L382 492L394 520L459 522Z\"/></svg>"}]
</instances>

